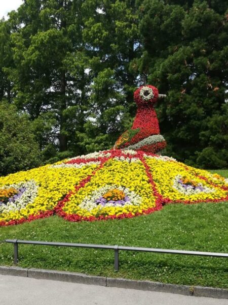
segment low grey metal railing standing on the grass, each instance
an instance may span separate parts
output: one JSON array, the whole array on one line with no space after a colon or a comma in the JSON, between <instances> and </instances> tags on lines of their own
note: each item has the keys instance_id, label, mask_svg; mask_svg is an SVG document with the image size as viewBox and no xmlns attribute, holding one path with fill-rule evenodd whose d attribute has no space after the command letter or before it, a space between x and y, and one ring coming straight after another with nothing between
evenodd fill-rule
<instances>
[{"instance_id":1,"label":"low grey metal railing standing on the grass","mask_svg":"<svg viewBox=\"0 0 228 305\"><path fill-rule=\"evenodd\" d=\"M185 251L185 250L168 250L168 249L154 249L154 248L139 248L139 247L125 247L125 246L108 246L108 245L92 245L89 243L70 243L70 242L50 242L50 241L36 241L36 240L20 240L20 239L6 239L6 242L14 244L14 264L18 263L18 245L41 245L41 246L55 246L55 247L73 247L73 248L92 248L92 249L106 249L114 250L114 268L119 270L119 251L138 251L138 252L153 252L165 254L182 254L182 255L198 255L198 256L212 256L212 257L227 257L228 253L216 252L201 252L201 251Z\"/></svg>"}]
</instances>

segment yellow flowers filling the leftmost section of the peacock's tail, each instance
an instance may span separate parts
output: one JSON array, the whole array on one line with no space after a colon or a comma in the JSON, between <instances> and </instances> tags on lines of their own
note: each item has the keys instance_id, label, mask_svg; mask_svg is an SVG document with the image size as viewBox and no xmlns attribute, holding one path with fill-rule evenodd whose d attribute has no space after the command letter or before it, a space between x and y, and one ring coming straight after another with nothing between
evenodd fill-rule
<instances>
[{"instance_id":1,"label":"yellow flowers filling the leftmost section of the peacock's tail","mask_svg":"<svg viewBox=\"0 0 228 305\"><path fill-rule=\"evenodd\" d=\"M74 190L74 186L96 168L97 165L83 168L53 168L51 165L46 165L0 177L0 188L29 180L34 180L38 186L38 193L33 202L29 202L20 210L0 213L0 222L20 220L30 215L37 215L42 211L52 210L59 200L69 191Z\"/></svg>"}]
</instances>

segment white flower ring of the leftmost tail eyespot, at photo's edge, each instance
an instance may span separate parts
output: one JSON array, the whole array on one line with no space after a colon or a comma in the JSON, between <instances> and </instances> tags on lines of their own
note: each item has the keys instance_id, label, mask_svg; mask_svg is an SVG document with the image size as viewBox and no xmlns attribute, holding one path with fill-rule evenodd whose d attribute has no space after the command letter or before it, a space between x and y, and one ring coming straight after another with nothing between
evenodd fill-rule
<instances>
[{"instance_id":1,"label":"white flower ring of the leftmost tail eyespot, at photo's edge","mask_svg":"<svg viewBox=\"0 0 228 305\"><path fill-rule=\"evenodd\" d=\"M10 186L6 186L1 189L8 189L8 188L14 188L16 190L23 188L25 189L25 191L22 193L21 196L18 196L18 198L16 198L15 200L9 201L7 204L1 204L0 214L2 212L20 210L23 207L25 207L27 204L32 203L37 196L39 186L36 185L34 180L30 180L27 182L19 182L18 184L12 184Z\"/></svg>"}]
</instances>

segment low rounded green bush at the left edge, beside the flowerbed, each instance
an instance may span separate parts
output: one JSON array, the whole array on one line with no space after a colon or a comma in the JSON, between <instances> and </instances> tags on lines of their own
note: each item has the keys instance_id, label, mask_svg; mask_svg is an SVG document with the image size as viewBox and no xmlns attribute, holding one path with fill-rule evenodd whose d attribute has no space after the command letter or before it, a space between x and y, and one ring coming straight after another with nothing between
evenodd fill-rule
<instances>
[{"instance_id":1,"label":"low rounded green bush at the left edge, beside the flowerbed","mask_svg":"<svg viewBox=\"0 0 228 305\"><path fill-rule=\"evenodd\" d=\"M0 175L27 170L41 164L39 145L26 115L16 107L0 103Z\"/></svg>"}]
</instances>

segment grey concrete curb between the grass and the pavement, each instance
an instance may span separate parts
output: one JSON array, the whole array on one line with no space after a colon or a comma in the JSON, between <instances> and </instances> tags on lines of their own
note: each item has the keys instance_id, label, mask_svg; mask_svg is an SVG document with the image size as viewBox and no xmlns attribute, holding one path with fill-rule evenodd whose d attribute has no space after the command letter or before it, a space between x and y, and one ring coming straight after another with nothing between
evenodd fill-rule
<instances>
[{"instance_id":1,"label":"grey concrete curb between the grass and the pavement","mask_svg":"<svg viewBox=\"0 0 228 305\"><path fill-rule=\"evenodd\" d=\"M169 292L183 295L204 296L228 299L228 290L221 288L200 287L163 284L150 281L134 281L127 279L113 279L105 277L87 276L82 273L56 271L35 268L6 267L0 266L0 274L8 276L28 277L33 279L63 281L105 287L117 287L157 292Z\"/></svg>"}]
</instances>

